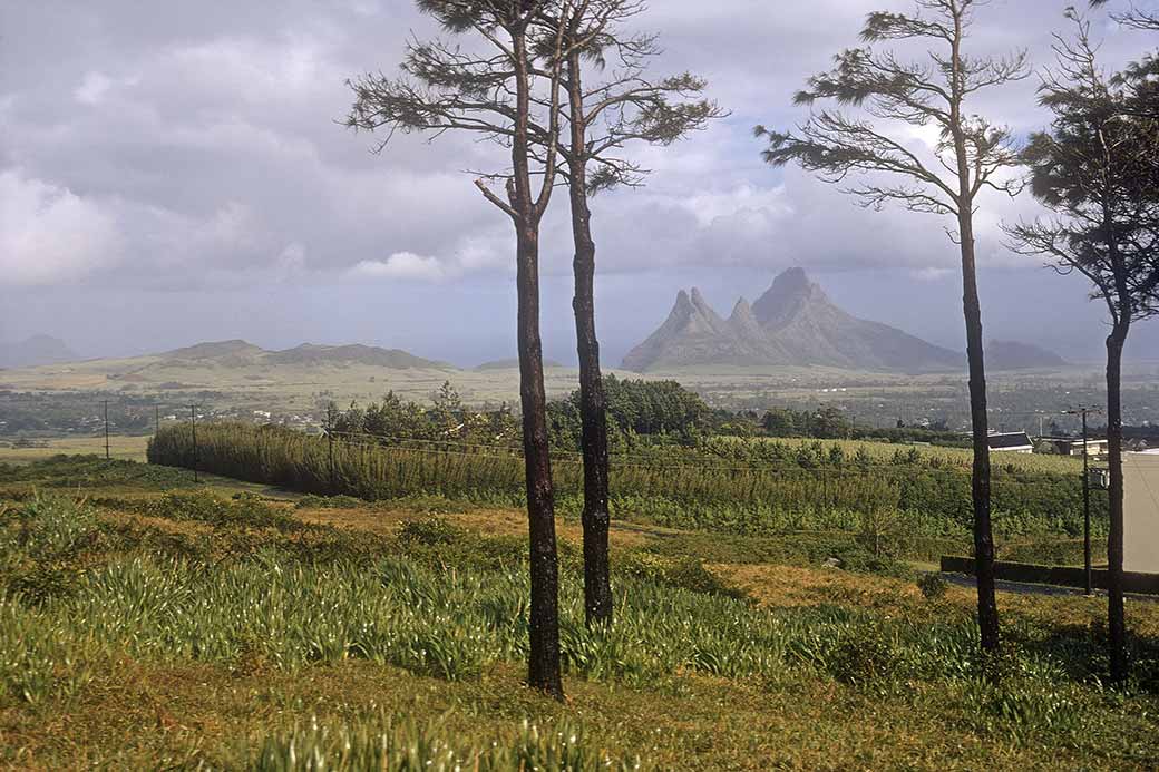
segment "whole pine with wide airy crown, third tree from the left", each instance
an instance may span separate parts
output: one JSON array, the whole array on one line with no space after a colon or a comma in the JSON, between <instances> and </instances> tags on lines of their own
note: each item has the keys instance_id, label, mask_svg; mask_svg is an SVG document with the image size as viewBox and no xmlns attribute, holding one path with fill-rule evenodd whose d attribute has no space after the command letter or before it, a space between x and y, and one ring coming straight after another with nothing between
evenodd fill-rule
<instances>
[{"instance_id":1,"label":"whole pine with wide airy crown, third tree from the left","mask_svg":"<svg viewBox=\"0 0 1159 772\"><path fill-rule=\"evenodd\" d=\"M1026 54L975 58L967 53L974 12L982 0L917 0L916 12L870 13L861 31L863 48L839 53L834 67L809 80L796 103L814 109L796 131L757 128L768 141L765 160L773 166L797 163L826 182L851 184L846 192L867 206L899 203L910 211L952 218L948 228L958 245L967 357L970 371L970 417L974 428L974 548L978 581L982 647L999 647L994 597L994 542L991 527L991 475L982 306L975 255L975 212L979 195L996 190L1016 195L1019 184L1004 170L1018 163L1006 129L969 112L979 92L1025 79ZM928 60L905 61L894 51L873 48L901 41L930 45ZM819 102L838 109L817 110ZM858 108L852 117L840 108ZM939 141L932 158L921 158L896 139L903 126L933 126Z\"/></svg>"}]
</instances>

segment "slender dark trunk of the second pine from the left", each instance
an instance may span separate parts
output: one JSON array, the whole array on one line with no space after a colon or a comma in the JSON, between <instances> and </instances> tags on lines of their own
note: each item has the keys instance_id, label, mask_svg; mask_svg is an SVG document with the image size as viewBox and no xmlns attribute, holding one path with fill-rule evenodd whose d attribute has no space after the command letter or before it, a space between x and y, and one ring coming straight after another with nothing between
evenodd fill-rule
<instances>
[{"instance_id":1,"label":"slender dark trunk of the second pine from the left","mask_svg":"<svg viewBox=\"0 0 1159 772\"><path fill-rule=\"evenodd\" d=\"M583 427L583 587L588 626L612 624L612 583L607 549L607 412L596 336L596 242L588 207L588 126L580 52L568 57L571 125L569 176L571 234L575 241L576 349L580 355L580 416Z\"/></svg>"}]
</instances>

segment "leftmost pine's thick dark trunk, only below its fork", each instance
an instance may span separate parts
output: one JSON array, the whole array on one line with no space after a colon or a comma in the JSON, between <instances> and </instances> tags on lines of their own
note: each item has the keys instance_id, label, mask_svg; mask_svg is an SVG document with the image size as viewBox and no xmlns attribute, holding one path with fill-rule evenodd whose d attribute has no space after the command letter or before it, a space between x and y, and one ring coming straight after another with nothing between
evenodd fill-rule
<instances>
[{"instance_id":1,"label":"leftmost pine's thick dark trunk, only below its fork","mask_svg":"<svg viewBox=\"0 0 1159 772\"><path fill-rule=\"evenodd\" d=\"M555 505L547 446L544 354L539 337L539 235L534 228L526 226L519 228L517 283L519 396L531 537L531 655L527 682L535 689L562 698Z\"/></svg>"}]
</instances>

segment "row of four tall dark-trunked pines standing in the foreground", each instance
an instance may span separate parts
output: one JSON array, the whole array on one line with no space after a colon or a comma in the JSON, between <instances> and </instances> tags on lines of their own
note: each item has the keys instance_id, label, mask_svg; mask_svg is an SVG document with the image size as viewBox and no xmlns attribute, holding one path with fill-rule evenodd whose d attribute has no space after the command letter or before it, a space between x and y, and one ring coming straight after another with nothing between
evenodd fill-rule
<instances>
[{"instance_id":1,"label":"row of four tall dark-trunked pines standing in the foreground","mask_svg":"<svg viewBox=\"0 0 1159 772\"><path fill-rule=\"evenodd\" d=\"M1092 5L1101 6L1105 0ZM402 74L350 81L347 125L379 132L467 133L506 156L475 173L480 194L512 225L520 371L520 440L530 526L529 683L562 698L559 658L559 568L554 530L551 410L544 391L539 332L540 224L563 185L574 249L574 301L583 452L585 611L589 625L612 624L607 559L608 415L614 394L599 369L593 276L597 248L591 196L639 185L646 169L633 144L664 146L727 112L705 97L691 73L654 75L661 49L636 31L642 0L416 0L443 37L407 45ZM994 595L991 468L982 301L975 226L989 194L1016 196L1029 184L1050 219L1008 226L1012 247L1048 255L1063 272L1086 276L1113 319L1108 336L1111 677L1125 676L1122 607L1122 467L1118 405L1122 347L1132 321L1157 308L1154 59L1107 75L1078 12L1074 38L1059 37L1058 66L1041 74L1051 125L1023 147L991 117L976 112L985 94L1033 75L1025 52L974 52L983 0L914 0L911 13L870 13L860 45L810 78L795 103L809 116L789 130L757 128L765 160L795 163L839 184L862 204L899 204L941 218L961 263L969 363L974 466L971 507L978 576L978 622L985 653L1000 647ZM1115 19L1157 29L1131 8ZM925 48L925 57L914 57ZM936 141L916 148L906 128L932 128ZM646 416L635 420L647 421ZM996 671L997 672L997 671ZM997 676L996 676L997 677Z\"/></svg>"}]
</instances>

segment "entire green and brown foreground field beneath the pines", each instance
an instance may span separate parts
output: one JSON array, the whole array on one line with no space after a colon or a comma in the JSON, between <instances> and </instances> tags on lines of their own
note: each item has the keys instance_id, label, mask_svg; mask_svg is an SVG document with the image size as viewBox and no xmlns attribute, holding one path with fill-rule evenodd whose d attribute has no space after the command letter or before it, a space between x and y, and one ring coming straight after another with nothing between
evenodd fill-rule
<instances>
[{"instance_id":1,"label":"entire green and brown foreground field beneath the pines","mask_svg":"<svg viewBox=\"0 0 1159 772\"><path fill-rule=\"evenodd\" d=\"M560 705L520 684L516 509L271 500L100 459L0 467L0 502L7 766L1159 764L1152 603L1129 604L1135 676L1116 693L1098 686L1100 600L999 593L994 686L968 590L919 588L896 566L824 568L834 547L860 548L839 533L619 522L617 624L590 632L580 529L564 517Z\"/></svg>"}]
</instances>

